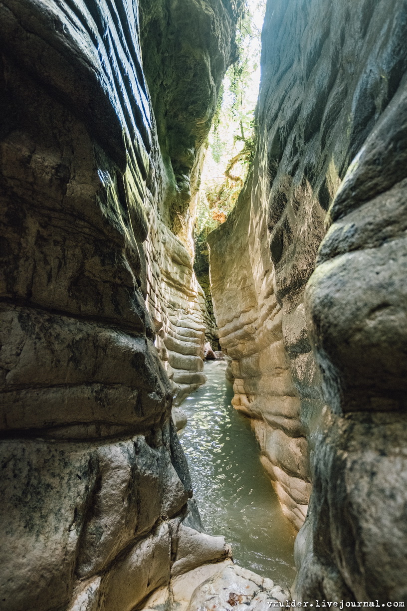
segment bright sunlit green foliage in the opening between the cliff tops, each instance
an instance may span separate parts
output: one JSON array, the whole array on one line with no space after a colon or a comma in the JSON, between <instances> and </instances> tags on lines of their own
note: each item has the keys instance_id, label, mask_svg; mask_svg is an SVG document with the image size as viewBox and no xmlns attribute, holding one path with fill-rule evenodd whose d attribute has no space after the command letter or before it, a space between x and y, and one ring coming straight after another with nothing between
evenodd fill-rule
<instances>
[{"instance_id":1,"label":"bright sunlit green foliage in the opening between the cliff tops","mask_svg":"<svg viewBox=\"0 0 407 611\"><path fill-rule=\"evenodd\" d=\"M254 156L254 108L259 85L260 27L265 0L238 0L236 43L238 57L226 73L219 92L213 128L197 205L196 251L207 255L208 233L223 222L237 202ZM259 19L260 15L260 19Z\"/></svg>"}]
</instances>

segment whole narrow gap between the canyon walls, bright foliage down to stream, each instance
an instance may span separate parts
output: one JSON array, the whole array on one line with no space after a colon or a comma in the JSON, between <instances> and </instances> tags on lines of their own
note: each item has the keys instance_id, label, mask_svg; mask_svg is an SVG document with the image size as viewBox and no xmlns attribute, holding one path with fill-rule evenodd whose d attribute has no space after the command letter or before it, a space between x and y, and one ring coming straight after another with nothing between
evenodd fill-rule
<instances>
[{"instance_id":1,"label":"whole narrow gap between the canyon walls, bright foliage down to stream","mask_svg":"<svg viewBox=\"0 0 407 611\"><path fill-rule=\"evenodd\" d=\"M205 354L212 352L209 358L221 346L211 299L207 237L232 213L254 157L265 4L265 0L248 0L238 24L238 60L222 84L200 175L194 271L212 323L205 334ZM180 432L202 522L212 535L223 535L232 544L238 565L290 587L295 577L295 530L260 463L250 420L232 406L226 361L208 360L204 372L206 384L183 402L188 423Z\"/></svg>"}]
</instances>

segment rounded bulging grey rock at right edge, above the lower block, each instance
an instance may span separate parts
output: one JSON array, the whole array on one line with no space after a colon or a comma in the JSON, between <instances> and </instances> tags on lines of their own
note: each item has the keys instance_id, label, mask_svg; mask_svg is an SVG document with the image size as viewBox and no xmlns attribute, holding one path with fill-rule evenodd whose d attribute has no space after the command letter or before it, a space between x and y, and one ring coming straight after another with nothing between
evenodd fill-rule
<instances>
[{"instance_id":1,"label":"rounded bulging grey rock at right edge, above the lower block","mask_svg":"<svg viewBox=\"0 0 407 611\"><path fill-rule=\"evenodd\" d=\"M307 288L325 394L337 413L406 408L406 128L403 81L329 208Z\"/></svg>"}]
</instances>

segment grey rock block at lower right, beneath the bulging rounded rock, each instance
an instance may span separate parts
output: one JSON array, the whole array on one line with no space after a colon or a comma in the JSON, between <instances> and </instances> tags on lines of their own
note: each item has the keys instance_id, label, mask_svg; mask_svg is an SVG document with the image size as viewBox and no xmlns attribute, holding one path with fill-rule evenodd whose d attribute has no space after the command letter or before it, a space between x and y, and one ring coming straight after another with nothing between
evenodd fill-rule
<instances>
[{"instance_id":1,"label":"grey rock block at lower right, beneath the bulging rounded rock","mask_svg":"<svg viewBox=\"0 0 407 611\"><path fill-rule=\"evenodd\" d=\"M296 540L297 601L406 601L405 420L397 412L338 417L327 408L309 516Z\"/></svg>"}]
</instances>

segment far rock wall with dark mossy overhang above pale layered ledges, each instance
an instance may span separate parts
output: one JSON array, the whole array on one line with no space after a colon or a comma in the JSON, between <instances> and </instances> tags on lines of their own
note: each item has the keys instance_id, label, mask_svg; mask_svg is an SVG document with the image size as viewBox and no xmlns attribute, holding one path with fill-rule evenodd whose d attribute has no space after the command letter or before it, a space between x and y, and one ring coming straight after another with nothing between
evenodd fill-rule
<instances>
[{"instance_id":1,"label":"far rock wall with dark mossy overhang above pale layered ledges","mask_svg":"<svg viewBox=\"0 0 407 611\"><path fill-rule=\"evenodd\" d=\"M205 333L216 332L193 270L193 231L202 144L235 55L235 13L220 0L142 0L140 9L160 149L154 164L159 197L148 213L147 295L179 404L205 381Z\"/></svg>"}]
</instances>

